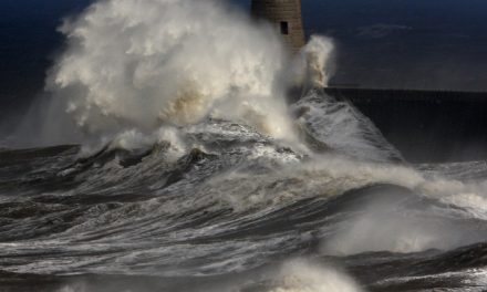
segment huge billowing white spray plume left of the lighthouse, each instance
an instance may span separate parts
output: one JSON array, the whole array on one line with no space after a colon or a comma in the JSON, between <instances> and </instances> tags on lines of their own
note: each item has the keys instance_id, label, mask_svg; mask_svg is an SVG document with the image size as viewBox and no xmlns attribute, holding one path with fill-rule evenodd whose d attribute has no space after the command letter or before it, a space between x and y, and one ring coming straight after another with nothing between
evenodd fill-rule
<instances>
[{"instance_id":1,"label":"huge billowing white spray plume left of the lighthouse","mask_svg":"<svg viewBox=\"0 0 487 292\"><path fill-rule=\"evenodd\" d=\"M102 0L61 32L68 46L49 73L45 123L69 125L59 135L154 131L210 115L292 135L281 77L290 56L279 35L221 1Z\"/></svg>"}]
</instances>

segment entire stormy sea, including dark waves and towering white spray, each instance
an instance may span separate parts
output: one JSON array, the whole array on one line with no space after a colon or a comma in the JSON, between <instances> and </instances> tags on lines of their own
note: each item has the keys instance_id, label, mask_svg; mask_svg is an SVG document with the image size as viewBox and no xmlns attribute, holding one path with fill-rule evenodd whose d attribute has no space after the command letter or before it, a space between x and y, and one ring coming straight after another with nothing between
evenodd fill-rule
<instances>
[{"instance_id":1,"label":"entire stormy sea, including dark waves and towering white spray","mask_svg":"<svg viewBox=\"0 0 487 292\"><path fill-rule=\"evenodd\" d=\"M0 291L486 290L487 163L403 158L323 90L332 39L209 0L60 31L0 149Z\"/></svg>"}]
</instances>

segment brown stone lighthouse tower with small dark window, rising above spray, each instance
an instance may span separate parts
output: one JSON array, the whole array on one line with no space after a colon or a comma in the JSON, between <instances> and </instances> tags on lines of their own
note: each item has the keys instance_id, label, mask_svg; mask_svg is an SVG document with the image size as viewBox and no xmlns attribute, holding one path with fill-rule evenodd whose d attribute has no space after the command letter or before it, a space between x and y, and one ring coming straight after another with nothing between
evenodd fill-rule
<instances>
[{"instance_id":1,"label":"brown stone lighthouse tower with small dark window, rising above spray","mask_svg":"<svg viewBox=\"0 0 487 292\"><path fill-rule=\"evenodd\" d=\"M293 53L304 45L301 0L252 0L252 15L272 22Z\"/></svg>"}]
</instances>

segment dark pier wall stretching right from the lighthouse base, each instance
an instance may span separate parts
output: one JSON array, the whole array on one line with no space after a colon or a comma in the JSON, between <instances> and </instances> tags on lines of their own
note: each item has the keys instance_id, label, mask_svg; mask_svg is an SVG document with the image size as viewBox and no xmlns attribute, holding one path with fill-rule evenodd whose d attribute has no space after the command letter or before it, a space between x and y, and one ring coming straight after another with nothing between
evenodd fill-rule
<instances>
[{"instance_id":1,"label":"dark pier wall stretching right from the lighthouse base","mask_svg":"<svg viewBox=\"0 0 487 292\"><path fill-rule=\"evenodd\" d=\"M487 93L325 88L352 102L413 163L487 159Z\"/></svg>"}]
</instances>

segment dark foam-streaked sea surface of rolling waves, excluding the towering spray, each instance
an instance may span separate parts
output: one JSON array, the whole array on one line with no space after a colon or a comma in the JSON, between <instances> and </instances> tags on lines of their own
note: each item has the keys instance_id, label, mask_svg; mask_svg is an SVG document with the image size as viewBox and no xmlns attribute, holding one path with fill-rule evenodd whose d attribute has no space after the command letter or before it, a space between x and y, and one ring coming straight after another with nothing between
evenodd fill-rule
<instances>
[{"instance_id":1,"label":"dark foam-streaked sea surface of rolling waves, excluding the towering spray","mask_svg":"<svg viewBox=\"0 0 487 292\"><path fill-rule=\"evenodd\" d=\"M1 291L485 291L487 163L411 165L346 102L292 107L313 153L224 119L1 150Z\"/></svg>"}]
</instances>

